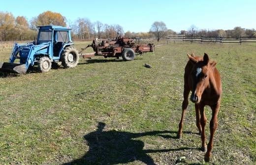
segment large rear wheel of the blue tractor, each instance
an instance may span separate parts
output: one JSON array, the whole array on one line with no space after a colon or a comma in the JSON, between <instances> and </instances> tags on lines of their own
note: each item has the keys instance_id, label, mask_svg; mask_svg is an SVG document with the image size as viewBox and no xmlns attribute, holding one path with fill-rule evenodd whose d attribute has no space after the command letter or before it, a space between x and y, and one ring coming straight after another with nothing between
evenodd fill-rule
<instances>
[{"instance_id":1,"label":"large rear wheel of the blue tractor","mask_svg":"<svg viewBox=\"0 0 256 165\"><path fill-rule=\"evenodd\" d=\"M73 68L79 61L79 54L73 47L67 47L62 54L62 65L64 68Z\"/></svg>"}]
</instances>

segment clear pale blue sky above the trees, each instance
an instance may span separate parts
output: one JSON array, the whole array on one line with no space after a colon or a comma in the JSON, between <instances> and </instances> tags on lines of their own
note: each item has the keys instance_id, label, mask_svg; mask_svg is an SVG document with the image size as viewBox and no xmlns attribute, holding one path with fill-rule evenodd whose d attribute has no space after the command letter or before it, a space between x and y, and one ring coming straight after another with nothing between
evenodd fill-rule
<instances>
[{"instance_id":1,"label":"clear pale blue sky above the trees","mask_svg":"<svg viewBox=\"0 0 256 165\"><path fill-rule=\"evenodd\" d=\"M88 18L92 22L119 24L124 31L149 31L163 21L174 31L256 28L256 0L4 0L0 11L28 20L50 10L68 22Z\"/></svg>"}]
</instances>

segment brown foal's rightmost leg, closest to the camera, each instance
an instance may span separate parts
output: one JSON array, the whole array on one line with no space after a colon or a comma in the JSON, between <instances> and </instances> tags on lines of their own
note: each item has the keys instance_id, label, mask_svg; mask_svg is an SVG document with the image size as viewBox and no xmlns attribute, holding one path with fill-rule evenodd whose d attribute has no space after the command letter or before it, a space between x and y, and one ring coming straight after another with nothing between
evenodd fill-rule
<instances>
[{"instance_id":1,"label":"brown foal's rightmost leg, closest to the camera","mask_svg":"<svg viewBox=\"0 0 256 165\"><path fill-rule=\"evenodd\" d=\"M205 156L204 156L205 162L210 161L211 151L213 148L213 136L218 126L217 116L220 109L220 103L218 102L215 106L211 106L211 109L212 109L212 119L210 121L210 139L207 145L207 152L205 153Z\"/></svg>"}]
</instances>

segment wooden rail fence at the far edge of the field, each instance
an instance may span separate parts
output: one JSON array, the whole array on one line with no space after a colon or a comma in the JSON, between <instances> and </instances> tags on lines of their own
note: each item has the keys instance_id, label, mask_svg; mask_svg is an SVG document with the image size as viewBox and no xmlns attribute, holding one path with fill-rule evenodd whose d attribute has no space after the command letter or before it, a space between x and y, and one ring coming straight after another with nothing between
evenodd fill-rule
<instances>
[{"instance_id":1,"label":"wooden rail fence at the far edge of the field","mask_svg":"<svg viewBox=\"0 0 256 165\"><path fill-rule=\"evenodd\" d=\"M167 35L166 36L167 44L169 42L197 42L197 43L240 43L243 42L256 42L256 37L247 38L247 37L239 37L239 38L224 38L224 37L206 37L206 36L192 36L192 35Z\"/></svg>"}]
</instances>

